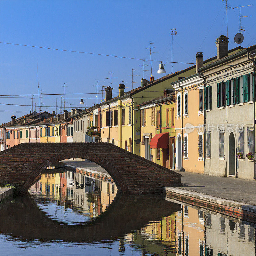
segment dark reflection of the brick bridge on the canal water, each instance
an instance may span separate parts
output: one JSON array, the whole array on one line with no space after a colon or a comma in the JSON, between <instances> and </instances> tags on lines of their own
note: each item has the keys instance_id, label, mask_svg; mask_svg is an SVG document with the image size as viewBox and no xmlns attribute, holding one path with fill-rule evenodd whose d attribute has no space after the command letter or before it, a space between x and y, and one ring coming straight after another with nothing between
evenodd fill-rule
<instances>
[{"instance_id":1,"label":"dark reflection of the brick bridge on the canal water","mask_svg":"<svg viewBox=\"0 0 256 256\"><path fill-rule=\"evenodd\" d=\"M179 210L180 205L159 197L118 193L105 213L94 221L87 225L69 225L45 216L29 196L23 196L0 208L0 231L19 240L109 241Z\"/></svg>"}]
</instances>

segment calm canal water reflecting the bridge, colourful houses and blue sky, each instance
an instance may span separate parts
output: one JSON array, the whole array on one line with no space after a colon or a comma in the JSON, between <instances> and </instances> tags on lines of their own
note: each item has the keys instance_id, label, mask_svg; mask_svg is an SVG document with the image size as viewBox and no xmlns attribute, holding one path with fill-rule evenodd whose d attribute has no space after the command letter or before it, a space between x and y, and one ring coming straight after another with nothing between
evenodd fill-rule
<instances>
[{"instance_id":1,"label":"calm canal water reflecting the bridge, colourful houses and blue sky","mask_svg":"<svg viewBox=\"0 0 256 256\"><path fill-rule=\"evenodd\" d=\"M256 255L250 223L58 170L0 205L0 255Z\"/></svg>"}]
</instances>

